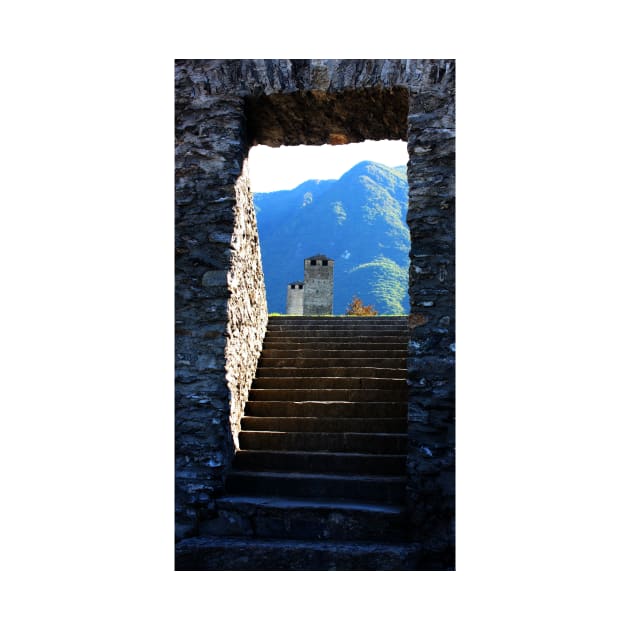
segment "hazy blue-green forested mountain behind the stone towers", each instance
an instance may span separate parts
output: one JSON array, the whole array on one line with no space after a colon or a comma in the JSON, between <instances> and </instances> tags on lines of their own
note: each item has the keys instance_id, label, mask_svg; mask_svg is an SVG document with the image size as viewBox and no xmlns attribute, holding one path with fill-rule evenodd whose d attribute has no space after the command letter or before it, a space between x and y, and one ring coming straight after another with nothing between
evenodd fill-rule
<instances>
[{"instance_id":1,"label":"hazy blue-green forested mountain behind the stone towers","mask_svg":"<svg viewBox=\"0 0 630 630\"><path fill-rule=\"evenodd\" d=\"M409 311L405 167L360 162L339 180L256 193L254 203L270 312L285 312L287 284L319 253L335 260L335 314L353 295L380 314Z\"/></svg>"}]
</instances>

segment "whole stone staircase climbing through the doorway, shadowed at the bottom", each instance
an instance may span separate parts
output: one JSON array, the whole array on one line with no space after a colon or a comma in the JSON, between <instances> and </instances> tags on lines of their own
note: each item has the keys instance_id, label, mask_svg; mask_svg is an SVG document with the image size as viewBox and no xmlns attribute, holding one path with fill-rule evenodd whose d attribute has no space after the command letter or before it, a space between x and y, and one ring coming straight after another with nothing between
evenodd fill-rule
<instances>
[{"instance_id":1,"label":"whole stone staircase climbing through the doorway, shadowed at the bottom","mask_svg":"<svg viewBox=\"0 0 630 630\"><path fill-rule=\"evenodd\" d=\"M178 570L414 570L406 317L273 317L226 496Z\"/></svg>"}]
</instances>

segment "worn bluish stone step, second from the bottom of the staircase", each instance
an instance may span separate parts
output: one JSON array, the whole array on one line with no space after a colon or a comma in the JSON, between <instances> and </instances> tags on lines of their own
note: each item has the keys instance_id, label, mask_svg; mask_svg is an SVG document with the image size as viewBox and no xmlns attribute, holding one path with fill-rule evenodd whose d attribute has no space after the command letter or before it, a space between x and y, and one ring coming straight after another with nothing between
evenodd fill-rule
<instances>
[{"instance_id":1,"label":"worn bluish stone step, second from the bottom of the staircase","mask_svg":"<svg viewBox=\"0 0 630 630\"><path fill-rule=\"evenodd\" d=\"M247 536L295 540L408 539L399 505L295 497L228 496L200 525L202 536Z\"/></svg>"}]
</instances>

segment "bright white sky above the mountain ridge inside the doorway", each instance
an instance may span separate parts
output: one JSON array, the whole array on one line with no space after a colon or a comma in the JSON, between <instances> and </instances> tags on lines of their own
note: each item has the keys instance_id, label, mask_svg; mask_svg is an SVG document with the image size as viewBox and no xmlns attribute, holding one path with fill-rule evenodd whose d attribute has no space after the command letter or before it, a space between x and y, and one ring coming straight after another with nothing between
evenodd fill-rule
<instances>
[{"instance_id":1,"label":"bright white sky above the mountain ridge inside the doorway","mask_svg":"<svg viewBox=\"0 0 630 630\"><path fill-rule=\"evenodd\" d=\"M253 192L292 190L308 179L338 179L363 160L401 166L408 159L403 140L277 148L258 145L249 151L249 176Z\"/></svg>"}]
</instances>

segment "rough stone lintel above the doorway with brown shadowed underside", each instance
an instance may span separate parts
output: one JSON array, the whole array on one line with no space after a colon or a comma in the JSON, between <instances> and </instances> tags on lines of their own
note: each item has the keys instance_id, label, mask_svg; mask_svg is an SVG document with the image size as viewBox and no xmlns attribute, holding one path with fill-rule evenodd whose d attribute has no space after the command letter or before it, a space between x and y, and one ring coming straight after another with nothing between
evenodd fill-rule
<instances>
[{"instance_id":1,"label":"rough stone lintel above the doorway with brown shadowed underside","mask_svg":"<svg viewBox=\"0 0 630 630\"><path fill-rule=\"evenodd\" d=\"M432 63L193 59L175 69L177 89L197 106L221 94L245 98L249 144L280 146L406 139L408 87L427 81Z\"/></svg>"}]
</instances>

